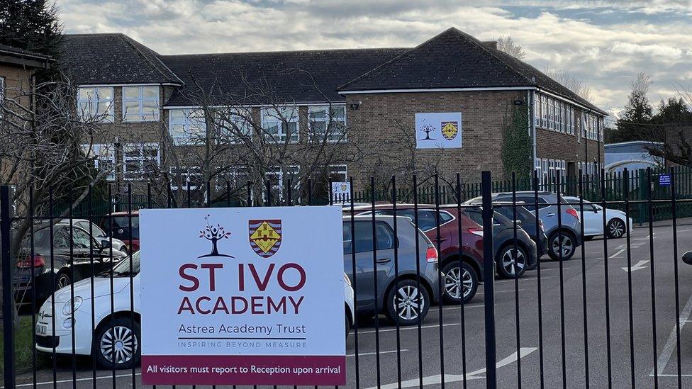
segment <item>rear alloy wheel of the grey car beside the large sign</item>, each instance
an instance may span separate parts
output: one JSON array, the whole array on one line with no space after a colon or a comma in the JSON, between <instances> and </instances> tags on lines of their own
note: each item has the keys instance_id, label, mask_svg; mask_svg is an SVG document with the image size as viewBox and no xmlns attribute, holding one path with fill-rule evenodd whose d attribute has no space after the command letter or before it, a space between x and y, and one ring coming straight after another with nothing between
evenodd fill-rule
<instances>
[{"instance_id":1,"label":"rear alloy wheel of the grey car beside the large sign","mask_svg":"<svg viewBox=\"0 0 692 389\"><path fill-rule=\"evenodd\" d=\"M387 301L387 315L399 325L423 322L430 308L428 291L413 280L399 280L387 293Z\"/></svg>"}]
</instances>

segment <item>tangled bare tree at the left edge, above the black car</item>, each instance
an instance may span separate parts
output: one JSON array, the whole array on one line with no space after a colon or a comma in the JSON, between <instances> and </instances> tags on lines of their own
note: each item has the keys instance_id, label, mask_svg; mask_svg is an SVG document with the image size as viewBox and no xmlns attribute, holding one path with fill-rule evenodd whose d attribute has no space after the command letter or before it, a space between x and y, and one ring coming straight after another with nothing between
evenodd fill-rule
<instances>
[{"instance_id":1,"label":"tangled bare tree at the left edge, above the black car","mask_svg":"<svg viewBox=\"0 0 692 389\"><path fill-rule=\"evenodd\" d=\"M115 169L96 169L99 155L85 152L109 110L94 108L91 115L91 106L87 112L77 106L77 89L60 74L33 89L7 89L0 103L0 184L13 187L14 254L35 222L31 216L57 222ZM50 208L59 204L65 205L59 213Z\"/></svg>"}]
</instances>

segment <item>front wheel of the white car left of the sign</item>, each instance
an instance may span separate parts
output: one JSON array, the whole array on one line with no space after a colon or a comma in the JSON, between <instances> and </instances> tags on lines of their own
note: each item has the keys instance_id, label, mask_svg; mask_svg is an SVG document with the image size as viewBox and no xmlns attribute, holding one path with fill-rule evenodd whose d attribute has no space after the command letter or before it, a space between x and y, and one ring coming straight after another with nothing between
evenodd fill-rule
<instances>
[{"instance_id":1,"label":"front wheel of the white car left of the sign","mask_svg":"<svg viewBox=\"0 0 692 389\"><path fill-rule=\"evenodd\" d=\"M133 368L140 361L140 325L127 317L106 319L96 331L94 350L96 361L104 368Z\"/></svg>"}]
</instances>

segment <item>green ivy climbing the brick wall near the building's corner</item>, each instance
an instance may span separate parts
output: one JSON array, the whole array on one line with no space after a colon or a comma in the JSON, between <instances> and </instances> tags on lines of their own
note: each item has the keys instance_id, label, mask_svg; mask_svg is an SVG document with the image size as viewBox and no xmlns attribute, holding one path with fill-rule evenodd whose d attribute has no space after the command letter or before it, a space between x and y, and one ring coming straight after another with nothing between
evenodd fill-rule
<instances>
[{"instance_id":1,"label":"green ivy climbing the brick wall near the building's corner","mask_svg":"<svg viewBox=\"0 0 692 389\"><path fill-rule=\"evenodd\" d=\"M518 179L531 176L532 144L527 111L524 101L520 106L513 106L505 120L502 134L502 165L506 179L512 178L512 171L516 171Z\"/></svg>"}]
</instances>

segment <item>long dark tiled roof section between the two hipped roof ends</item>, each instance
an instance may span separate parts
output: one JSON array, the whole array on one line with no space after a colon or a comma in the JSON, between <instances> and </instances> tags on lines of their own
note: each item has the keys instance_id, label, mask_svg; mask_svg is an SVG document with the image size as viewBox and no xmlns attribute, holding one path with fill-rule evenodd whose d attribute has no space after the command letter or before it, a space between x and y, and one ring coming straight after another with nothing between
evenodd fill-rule
<instances>
[{"instance_id":1,"label":"long dark tiled roof section between the two hipped roof ends","mask_svg":"<svg viewBox=\"0 0 692 389\"><path fill-rule=\"evenodd\" d=\"M228 54L163 55L185 86L169 106L198 100L214 91L217 103L343 101L337 86L408 49L308 50Z\"/></svg>"}]
</instances>

